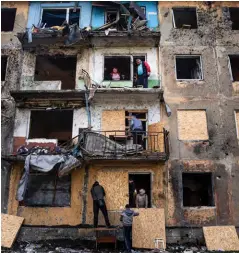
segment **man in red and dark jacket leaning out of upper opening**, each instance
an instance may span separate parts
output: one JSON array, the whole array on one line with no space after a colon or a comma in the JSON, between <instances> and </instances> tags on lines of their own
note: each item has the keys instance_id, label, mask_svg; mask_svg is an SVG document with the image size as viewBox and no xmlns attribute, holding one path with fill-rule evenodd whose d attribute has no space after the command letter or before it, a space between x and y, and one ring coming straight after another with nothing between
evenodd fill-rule
<instances>
[{"instance_id":1,"label":"man in red and dark jacket leaning out of upper opening","mask_svg":"<svg viewBox=\"0 0 239 253\"><path fill-rule=\"evenodd\" d=\"M143 85L144 88L148 88L148 77L150 76L150 66L146 61L136 59L137 64L137 85Z\"/></svg>"}]
</instances>

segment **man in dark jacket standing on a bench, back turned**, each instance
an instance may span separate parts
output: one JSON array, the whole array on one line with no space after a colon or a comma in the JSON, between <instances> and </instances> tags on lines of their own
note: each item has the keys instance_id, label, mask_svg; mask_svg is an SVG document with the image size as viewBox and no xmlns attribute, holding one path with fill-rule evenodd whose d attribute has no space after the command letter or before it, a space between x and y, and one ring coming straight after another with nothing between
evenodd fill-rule
<instances>
[{"instance_id":1,"label":"man in dark jacket standing on a bench, back turned","mask_svg":"<svg viewBox=\"0 0 239 253\"><path fill-rule=\"evenodd\" d=\"M104 201L105 190L97 181L95 181L91 188L91 196L93 199L94 227L97 228L98 226L99 209L104 215L106 226L110 227L108 212Z\"/></svg>"}]
</instances>

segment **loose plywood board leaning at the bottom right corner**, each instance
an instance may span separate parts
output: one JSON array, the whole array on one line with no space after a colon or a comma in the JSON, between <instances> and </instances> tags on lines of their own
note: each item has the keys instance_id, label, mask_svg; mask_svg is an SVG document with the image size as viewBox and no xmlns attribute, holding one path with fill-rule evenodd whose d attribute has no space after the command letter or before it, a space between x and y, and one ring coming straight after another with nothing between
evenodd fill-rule
<instances>
[{"instance_id":1,"label":"loose plywood board leaning at the bottom right corner","mask_svg":"<svg viewBox=\"0 0 239 253\"><path fill-rule=\"evenodd\" d=\"M239 250L239 239L234 226L203 227L208 250Z\"/></svg>"}]
</instances>

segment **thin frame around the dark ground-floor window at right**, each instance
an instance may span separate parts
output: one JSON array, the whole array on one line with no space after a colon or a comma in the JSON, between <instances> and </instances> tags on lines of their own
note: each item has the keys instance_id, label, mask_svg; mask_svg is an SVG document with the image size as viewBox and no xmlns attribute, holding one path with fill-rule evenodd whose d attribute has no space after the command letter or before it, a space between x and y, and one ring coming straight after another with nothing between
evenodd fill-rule
<instances>
[{"instance_id":1,"label":"thin frame around the dark ground-floor window at right","mask_svg":"<svg viewBox=\"0 0 239 253\"><path fill-rule=\"evenodd\" d=\"M210 206L184 206L183 205L183 174L210 174L210 178L211 178L211 192L212 192L212 205ZM206 171L206 172L200 172L200 171L183 171L181 174L181 182L182 182L182 201L181 201L181 207L183 209L191 209L191 208L215 208L216 207L216 203L215 203L215 184L214 184L214 177L213 177L213 172L212 171Z\"/></svg>"}]
</instances>

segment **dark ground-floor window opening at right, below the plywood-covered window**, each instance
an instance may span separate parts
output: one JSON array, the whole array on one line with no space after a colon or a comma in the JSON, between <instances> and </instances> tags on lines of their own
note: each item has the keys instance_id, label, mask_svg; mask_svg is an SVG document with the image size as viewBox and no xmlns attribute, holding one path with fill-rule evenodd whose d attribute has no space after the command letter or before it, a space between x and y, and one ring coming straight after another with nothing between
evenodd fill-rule
<instances>
[{"instance_id":1,"label":"dark ground-floor window opening at right, below the plywood-covered window","mask_svg":"<svg viewBox=\"0 0 239 253\"><path fill-rule=\"evenodd\" d=\"M214 206L211 173L183 173L183 206Z\"/></svg>"}]
</instances>

